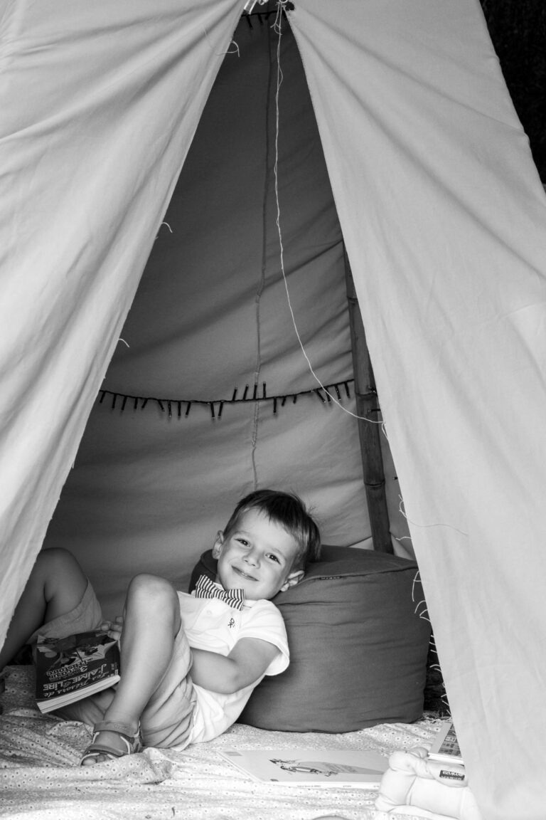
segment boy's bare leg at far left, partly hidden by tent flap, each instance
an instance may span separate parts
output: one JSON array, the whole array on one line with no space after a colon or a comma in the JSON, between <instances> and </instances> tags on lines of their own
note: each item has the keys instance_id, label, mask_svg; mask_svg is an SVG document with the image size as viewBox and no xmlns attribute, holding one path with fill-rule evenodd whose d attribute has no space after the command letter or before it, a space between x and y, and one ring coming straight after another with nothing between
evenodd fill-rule
<instances>
[{"instance_id":1,"label":"boy's bare leg at far left, partly hidden by tent flap","mask_svg":"<svg viewBox=\"0 0 546 820\"><path fill-rule=\"evenodd\" d=\"M87 585L88 579L78 561L65 549L44 549L38 553L0 650L0 670L38 626L78 606Z\"/></svg>"}]
</instances>

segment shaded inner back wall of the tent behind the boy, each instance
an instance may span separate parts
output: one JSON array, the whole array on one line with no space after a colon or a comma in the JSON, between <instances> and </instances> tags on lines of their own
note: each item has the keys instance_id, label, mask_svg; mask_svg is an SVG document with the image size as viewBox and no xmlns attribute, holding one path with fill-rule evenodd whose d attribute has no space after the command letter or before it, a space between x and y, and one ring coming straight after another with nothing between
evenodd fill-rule
<instances>
[{"instance_id":1,"label":"shaded inner back wall of the tent behind the boy","mask_svg":"<svg viewBox=\"0 0 546 820\"><path fill-rule=\"evenodd\" d=\"M300 54L274 20L237 25L47 531L106 612L137 569L186 589L256 487L299 493L325 543L372 548L343 236ZM411 556L378 437L392 549Z\"/></svg>"}]
</instances>

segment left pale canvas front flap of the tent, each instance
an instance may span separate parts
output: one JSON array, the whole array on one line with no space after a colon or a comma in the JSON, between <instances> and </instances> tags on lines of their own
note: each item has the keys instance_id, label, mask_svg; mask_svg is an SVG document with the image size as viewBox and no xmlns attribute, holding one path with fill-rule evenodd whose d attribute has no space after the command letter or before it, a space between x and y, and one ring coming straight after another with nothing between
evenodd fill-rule
<instances>
[{"instance_id":1,"label":"left pale canvas front flap of the tent","mask_svg":"<svg viewBox=\"0 0 546 820\"><path fill-rule=\"evenodd\" d=\"M76 0L60 11L52 0L20 0L2 8L0 640L238 5Z\"/></svg>"}]
</instances>

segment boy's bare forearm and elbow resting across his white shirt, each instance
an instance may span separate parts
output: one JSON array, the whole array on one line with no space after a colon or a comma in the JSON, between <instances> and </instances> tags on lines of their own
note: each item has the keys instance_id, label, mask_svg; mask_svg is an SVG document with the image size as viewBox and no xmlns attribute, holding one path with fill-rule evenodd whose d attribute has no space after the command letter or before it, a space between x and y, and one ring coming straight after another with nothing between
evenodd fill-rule
<instances>
[{"instance_id":1,"label":"boy's bare forearm and elbow resting across his white shirt","mask_svg":"<svg viewBox=\"0 0 546 820\"><path fill-rule=\"evenodd\" d=\"M228 655L192 649L192 681L203 689L231 695L257 681L279 649L268 640L241 638Z\"/></svg>"}]
</instances>

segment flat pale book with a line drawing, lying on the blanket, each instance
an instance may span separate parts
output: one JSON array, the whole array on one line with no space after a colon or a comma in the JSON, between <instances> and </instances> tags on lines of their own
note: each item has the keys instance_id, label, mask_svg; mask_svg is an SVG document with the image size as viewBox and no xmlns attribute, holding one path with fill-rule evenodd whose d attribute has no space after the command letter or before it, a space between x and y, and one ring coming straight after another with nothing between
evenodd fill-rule
<instances>
[{"instance_id":1,"label":"flat pale book with a line drawing, lying on the blanket","mask_svg":"<svg viewBox=\"0 0 546 820\"><path fill-rule=\"evenodd\" d=\"M378 789L387 758L357 749L223 749L252 780L280 786Z\"/></svg>"}]
</instances>

